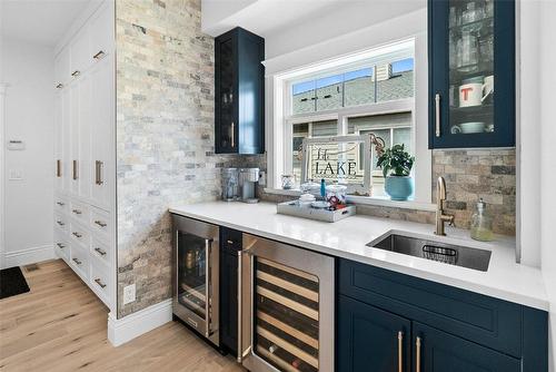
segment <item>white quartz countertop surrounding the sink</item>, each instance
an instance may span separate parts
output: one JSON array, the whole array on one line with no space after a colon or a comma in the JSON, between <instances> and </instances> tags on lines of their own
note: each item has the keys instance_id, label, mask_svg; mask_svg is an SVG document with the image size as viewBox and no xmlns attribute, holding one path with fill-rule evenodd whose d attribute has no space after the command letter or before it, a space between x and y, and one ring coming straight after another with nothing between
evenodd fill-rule
<instances>
[{"instance_id":1,"label":"white quartz countertop surrounding the sink","mask_svg":"<svg viewBox=\"0 0 556 372\"><path fill-rule=\"evenodd\" d=\"M464 229L447 227L446 237L433 234L434 226L356 215L336 223L279 215L270 203L210 202L175 206L171 213L201 219L249 234L297 245L407 275L453 285L535 309L548 310L540 270L515 262L515 241L498 236L495 242L473 241ZM420 257L366 246L389 232L492 251L487 272L453 266Z\"/></svg>"}]
</instances>

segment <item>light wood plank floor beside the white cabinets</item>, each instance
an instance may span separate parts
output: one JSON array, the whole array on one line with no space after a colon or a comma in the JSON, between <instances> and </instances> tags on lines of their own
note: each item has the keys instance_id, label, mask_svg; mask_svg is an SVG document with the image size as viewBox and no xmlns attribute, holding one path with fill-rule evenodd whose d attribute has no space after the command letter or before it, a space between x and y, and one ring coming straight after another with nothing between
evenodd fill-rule
<instances>
[{"instance_id":1,"label":"light wood plank floor beside the white cabinets","mask_svg":"<svg viewBox=\"0 0 556 372\"><path fill-rule=\"evenodd\" d=\"M0 371L245 371L176 322L112 347L108 310L62 261L23 272L31 291L0 300Z\"/></svg>"}]
</instances>

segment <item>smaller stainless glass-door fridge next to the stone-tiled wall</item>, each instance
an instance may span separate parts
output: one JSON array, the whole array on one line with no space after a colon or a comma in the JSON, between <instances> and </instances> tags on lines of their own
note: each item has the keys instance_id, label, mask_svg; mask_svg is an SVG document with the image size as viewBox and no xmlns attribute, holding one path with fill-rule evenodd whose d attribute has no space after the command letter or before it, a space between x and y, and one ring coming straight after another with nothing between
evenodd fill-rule
<instances>
[{"instance_id":1,"label":"smaller stainless glass-door fridge next to the stone-tiled wall","mask_svg":"<svg viewBox=\"0 0 556 372\"><path fill-rule=\"evenodd\" d=\"M172 313L219 346L219 228L173 215Z\"/></svg>"}]
</instances>

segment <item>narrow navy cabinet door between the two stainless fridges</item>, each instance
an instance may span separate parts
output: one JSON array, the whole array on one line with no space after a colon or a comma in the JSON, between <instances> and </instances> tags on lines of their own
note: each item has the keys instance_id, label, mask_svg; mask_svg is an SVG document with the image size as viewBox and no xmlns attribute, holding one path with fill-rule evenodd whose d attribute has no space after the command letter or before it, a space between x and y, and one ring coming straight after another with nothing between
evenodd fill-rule
<instances>
[{"instance_id":1,"label":"narrow navy cabinet door between the two stainless fridges","mask_svg":"<svg viewBox=\"0 0 556 372\"><path fill-rule=\"evenodd\" d=\"M220 249L220 343L237 355L238 344L238 256Z\"/></svg>"}]
</instances>

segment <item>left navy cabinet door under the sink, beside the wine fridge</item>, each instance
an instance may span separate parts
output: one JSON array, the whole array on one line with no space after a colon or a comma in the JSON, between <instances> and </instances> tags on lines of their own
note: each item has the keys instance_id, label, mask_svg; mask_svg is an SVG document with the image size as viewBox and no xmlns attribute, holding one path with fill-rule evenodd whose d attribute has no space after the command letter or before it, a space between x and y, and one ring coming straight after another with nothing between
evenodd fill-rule
<instances>
[{"instance_id":1,"label":"left navy cabinet door under the sink, beside the wine fridge","mask_svg":"<svg viewBox=\"0 0 556 372\"><path fill-rule=\"evenodd\" d=\"M336 371L409 371L408 320L342 295L338 302Z\"/></svg>"}]
</instances>

